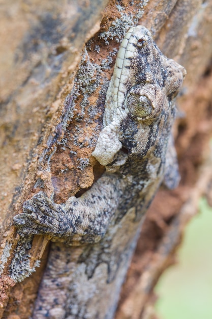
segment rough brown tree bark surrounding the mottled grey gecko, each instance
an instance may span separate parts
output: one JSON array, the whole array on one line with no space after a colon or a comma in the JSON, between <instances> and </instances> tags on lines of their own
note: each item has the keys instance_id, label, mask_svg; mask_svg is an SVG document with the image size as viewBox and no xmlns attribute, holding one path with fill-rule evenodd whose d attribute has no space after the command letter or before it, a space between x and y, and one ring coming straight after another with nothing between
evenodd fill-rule
<instances>
[{"instance_id":1,"label":"rough brown tree bark surrounding the mottled grey gecko","mask_svg":"<svg viewBox=\"0 0 212 319\"><path fill-rule=\"evenodd\" d=\"M87 106L83 108L82 96L79 96L65 133L59 123L69 120L66 119L67 104L64 106L64 101L72 90L84 43L93 37L88 55L89 60L97 65L112 49L119 47L112 39L108 39L109 45L106 46L99 37L99 32L107 35L111 22L121 18L122 23L127 23L115 1L109 1L103 13L106 3L97 0L37 1L27 4L7 2L3 6L0 28L3 39L0 244L6 256L2 261L4 271L0 285L3 306L0 317L3 318L28 318L31 315L49 247L48 238L35 236L28 251L32 256L30 265L33 268L35 260L42 257L41 267L12 288L15 282L9 277L9 269L19 239L12 226L12 217L19 212L23 201L42 187L42 183L49 194L54 188L55 200L59 203L90 187L102 172L96 162L86 167L79 165L79 159L89 158L94 150L93 137L97 137L100 131L104 109L104 99L99 98L100 88L89 95L89 103L96 105L97 110L92 120ZM124 7L126 15L134 18L138 3L135 1L134 6L130 6L129 1L118 4ZM212 3L153 1L143 3L140 12L142 10L144 13L140 13L139 24L152 31L163 54L183 65L188 73L184 94L177 101L180 115L175 125L181 182L174 191L160 190L148 211L116 318L150 318L153 315L154 285L163 270L173 262L185 225L197 211L199 197L203 194L209 196L212 179L208 159L212 130ZM136 18L134 23L137 23ZM118 35L122 36L122 30ZM99 49L94 50L96 45L99 45L99 54ZM114 61L114 55L111 57ZM94 77L97 76L95 72ZM104 72L109 79L111 65ZM100 82L100 87L102 84ZM85 121L80 122L82 114L90 121L89 130L86 128L85 131ZM52 155L55 136L68 138L68 142L66 149L62 144ZM70 156L68 146L73 156ZM50 172L47 170L49 155L52 155ZM40 183L35 185L38 180ZM12 247L8 249L8 255L5 247Z\"/></svg>"}]
</instances>

